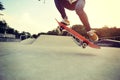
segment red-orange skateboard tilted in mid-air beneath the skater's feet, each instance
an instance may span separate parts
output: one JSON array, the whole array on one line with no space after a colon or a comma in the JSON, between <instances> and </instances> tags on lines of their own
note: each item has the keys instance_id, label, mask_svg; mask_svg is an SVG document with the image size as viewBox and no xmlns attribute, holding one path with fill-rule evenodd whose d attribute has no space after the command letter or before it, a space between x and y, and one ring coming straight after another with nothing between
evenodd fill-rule
<instances>
[{"instance_id":1,"label":"red-orange skateboard tilted in mid-air beneath the skater's feet","mask_svg":"<svg viewBox=\"0 0 120 80\"><path fill-rule=\"evenodd\" d=\"M87 46L89 46L91 48L100 49L100 46L89 41L88 39L86 39L85 37L77 33L76 31L74 31L73 29L68 28L67 25L65 25L64 23L59 22L57 19L56 21L60 28L65 29L68 33L70 33L73 37L75 37L77 41L79 40L79 43L81 44L82 48L86 48Z\"/></svg>"}]
</instances>

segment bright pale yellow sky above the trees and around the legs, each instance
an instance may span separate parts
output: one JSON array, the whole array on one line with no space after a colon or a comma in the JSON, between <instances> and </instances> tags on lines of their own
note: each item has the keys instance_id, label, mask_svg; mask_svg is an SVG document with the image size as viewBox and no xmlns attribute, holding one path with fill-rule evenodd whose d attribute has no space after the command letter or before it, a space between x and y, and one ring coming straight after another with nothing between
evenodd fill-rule
<instances>
[{"instance_id":1,"label":"bright pale yellow sky above the trees and around the legs","mask_svg":"<svg viewBox=\"0 0 120 80\"><path fill-rule=\"evenodd\" d=\"M62 20L57 11L54 0L0 0L5 7L1 11L8 25L20 32L31 34L48 32L58 24L55 18ZM88 15L92 28L101 28L105 25L120 28L120 0L86 0L85 12ZM71 25L82 24L75 11L66 10Z\"/></svg>"}]
</instances>

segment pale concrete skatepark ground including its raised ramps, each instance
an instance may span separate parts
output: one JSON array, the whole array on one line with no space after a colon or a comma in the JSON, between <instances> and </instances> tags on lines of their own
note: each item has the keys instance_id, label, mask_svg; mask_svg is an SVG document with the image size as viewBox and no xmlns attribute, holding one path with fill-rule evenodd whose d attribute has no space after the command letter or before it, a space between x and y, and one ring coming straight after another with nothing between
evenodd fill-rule
<instances>
[{"instance_id":1,"label":"pale concrete skatepark ground including its raised ramps","mask_svg":"<svg viewBox=\"0 0 120 80\"><path fill-rule=\"evenodd\" d=\"M51 35L0 42L0 80L120 80L120 49Z\"/></svg>"}]
</instances>

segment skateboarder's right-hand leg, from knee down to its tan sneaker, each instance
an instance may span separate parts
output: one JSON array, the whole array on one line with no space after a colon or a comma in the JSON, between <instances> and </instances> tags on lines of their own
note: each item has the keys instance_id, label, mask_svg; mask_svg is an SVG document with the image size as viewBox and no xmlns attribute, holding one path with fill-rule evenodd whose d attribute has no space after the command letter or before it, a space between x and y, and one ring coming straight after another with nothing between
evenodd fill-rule
<instances>
[{"instance_id":1,"label":"skateboarder's right-hand leg, from knee down to its tan sneaker","mask_svg":"<svg viewBox=\"0 0 120 80\"><path fill-rule=\"evenodd\" d=\"M85 26L89 38L92 41L97 41L98 36L94 31L91 30L91 27L90 27L90 24L88 21L88 17L83 9L84 6L85 6L85 0L78 0L78 2L76 3L76 7L75 7L76 13L78 14L83 25Z\"/></svg>"}]
</instances>

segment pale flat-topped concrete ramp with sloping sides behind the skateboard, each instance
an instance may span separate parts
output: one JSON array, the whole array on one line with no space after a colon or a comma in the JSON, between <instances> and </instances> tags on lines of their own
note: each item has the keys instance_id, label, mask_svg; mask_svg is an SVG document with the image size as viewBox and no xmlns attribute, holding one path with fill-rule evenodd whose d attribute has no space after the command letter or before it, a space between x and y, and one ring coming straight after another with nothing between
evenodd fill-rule
<instances>
[{"instance_id":1,"label":"pale flat-topped concrete ramp with sloping sides behind the skateboard","mask_svg":"<svg viewBox=\"0 0 120 80\"><path fill-rule=\"evenodd\" d=\"M41 35L34 42L33 45L40 46L78 46L72 37L68 36L53 36L53 35Z\"/></svg>"}]
</instances>

